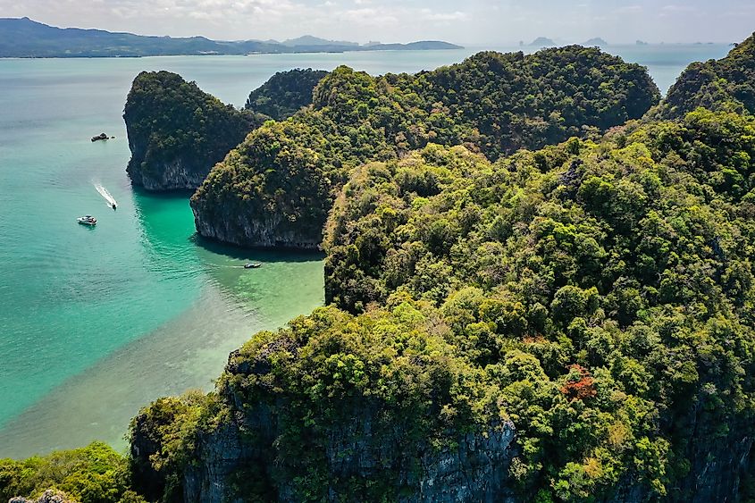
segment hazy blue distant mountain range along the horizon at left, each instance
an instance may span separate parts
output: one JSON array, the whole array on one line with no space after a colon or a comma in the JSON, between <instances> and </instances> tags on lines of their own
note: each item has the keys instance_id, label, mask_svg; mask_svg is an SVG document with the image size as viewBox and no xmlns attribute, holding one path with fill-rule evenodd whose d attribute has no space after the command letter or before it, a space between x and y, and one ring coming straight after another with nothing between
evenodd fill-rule
<instances>
[{"instance_id":1,"label":"hazy blue distant mountain range along the horizon at left","mask_svg":"<svg viewBox=\"0 0 755 503\"><path fill-rule=\"evenodd\" d=\"M0 57L135 57L197 54L341 53L436 50L463 47L437 40L374 44L304 36L276 40L211 40L205 37L147 37L102 29L56 28L29 18L0 18Z\"/></svg>"}]
</instances>

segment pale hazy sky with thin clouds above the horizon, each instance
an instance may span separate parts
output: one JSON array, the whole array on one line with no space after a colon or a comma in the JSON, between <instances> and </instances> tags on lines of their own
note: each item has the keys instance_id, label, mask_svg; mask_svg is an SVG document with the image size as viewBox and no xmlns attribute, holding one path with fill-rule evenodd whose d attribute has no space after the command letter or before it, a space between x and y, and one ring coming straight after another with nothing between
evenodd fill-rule
<instances>
[{"instance_id":1,"label":"pale hazy sky with thin clouds above the horizon","mask_svg":"<svg viewBox=\"0 0 755 503\"><path fill-rule=\"evenodd\" d=\"M734 42L755 30L755 0L0 0L0 17L23 16L60 27L225 40Z\"/></svg>"}]
</instances>

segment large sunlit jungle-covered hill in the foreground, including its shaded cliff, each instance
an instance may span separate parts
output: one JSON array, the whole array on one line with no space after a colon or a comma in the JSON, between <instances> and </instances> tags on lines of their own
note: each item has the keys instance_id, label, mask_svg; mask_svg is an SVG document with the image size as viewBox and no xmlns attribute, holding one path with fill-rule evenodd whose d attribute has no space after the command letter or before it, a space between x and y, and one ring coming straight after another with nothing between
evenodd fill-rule
<instances>
[{"instance_id":1,"label":"large sunlit jungle-covered hill in the foreground, including its shaded cliff","mask_svg":"<svg viewBox=\"0 0 755 503\"><path fill-rule=\"evenodd\" d=\"M257 334L204 403L147 408L141 480L211 501L218 483L246 500L743 498L753 133L700 110L496 163L428 145L365 164L327 226L330 306Z\"/></svg>"}]
</instances>

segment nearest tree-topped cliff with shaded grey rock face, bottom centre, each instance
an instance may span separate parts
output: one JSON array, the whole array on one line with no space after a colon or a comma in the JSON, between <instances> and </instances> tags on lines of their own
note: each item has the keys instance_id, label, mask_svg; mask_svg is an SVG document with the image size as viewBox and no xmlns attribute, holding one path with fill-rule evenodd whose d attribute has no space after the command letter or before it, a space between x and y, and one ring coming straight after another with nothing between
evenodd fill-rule
<instances>
[{"instance_id":1,"label":"nearest tree-topped cliff with shaded grey rock face, bottom centre","mask_svg":"<svg viewBox=\"0 0 755 503\"><path fill-rule=\"evenodd\" d=\"M365 323L364 339L342 347L332 339L342 323ZM414 340L380 339L386 330ZM479 375L449 360L457 348L442 330L401 304L358 319L322 308L258 334L231 353L206 403L164 398L138 415L140 489L207 503L513 501L514 424Z\"/></svg>"}]
</instances>

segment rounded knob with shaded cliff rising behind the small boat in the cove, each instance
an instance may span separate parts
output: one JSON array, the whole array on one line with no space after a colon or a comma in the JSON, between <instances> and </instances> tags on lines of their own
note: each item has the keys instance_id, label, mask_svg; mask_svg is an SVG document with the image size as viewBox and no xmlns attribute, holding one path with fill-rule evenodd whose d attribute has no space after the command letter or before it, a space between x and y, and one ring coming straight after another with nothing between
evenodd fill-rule
<instances>
[{"instance_id":1,"label":"rounded knob with shaded cliff rising behind the small boat in the cove","mask_svg":"<svg viewBox=\"0 0 755 503\"><path fill-rule=\"evenodd\" d=\"M325 176L325 157L290 132L300 129L268 122L210 172L191 197L200 235L244 247L319 247L335 177ZM237 175L246 180L233 183Z\"/></svg>"}]
</instances>

